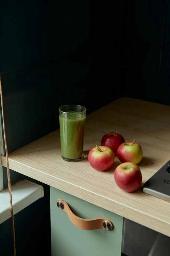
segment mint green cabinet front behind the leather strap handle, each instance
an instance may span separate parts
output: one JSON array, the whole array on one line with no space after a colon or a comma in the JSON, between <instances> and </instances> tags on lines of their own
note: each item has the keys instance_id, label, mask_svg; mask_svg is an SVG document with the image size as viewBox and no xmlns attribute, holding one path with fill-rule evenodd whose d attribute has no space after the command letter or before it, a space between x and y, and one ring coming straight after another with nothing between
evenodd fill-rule
<instances>
[{"instance_id":1,"label":"mint green cabinet front behind the leather strap handle","mask_svg":"<svg viewBox=\"0 0 170 256\"><path fill-rule=\"evenodd\" d=\"M113 230L82 230L60 210L56 201L63 199L71 210L84 219L107 218ZM51 251L52 256L120 256L123 217L95 206L78 197L50 187Z\"/></svg>"}]
</instances>

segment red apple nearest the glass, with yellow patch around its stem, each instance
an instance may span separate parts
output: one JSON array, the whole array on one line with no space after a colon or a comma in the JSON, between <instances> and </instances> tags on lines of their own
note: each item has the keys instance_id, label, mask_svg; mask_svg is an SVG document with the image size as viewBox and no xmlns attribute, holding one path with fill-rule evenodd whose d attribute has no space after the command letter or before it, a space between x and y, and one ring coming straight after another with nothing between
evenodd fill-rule
<instances>
[{"instance_id":1,"label":"red apple nearest the glass, with yellow patch around its stem","mask_svg":"<svg viewBox=\"0 0 170 256\"><path fill-rule=\"evenodd\" d=\"M88 154L90 165L98 171L106 171L114 163L114 153L109 147L93 147Z\"/></svg>"}]
</instances>

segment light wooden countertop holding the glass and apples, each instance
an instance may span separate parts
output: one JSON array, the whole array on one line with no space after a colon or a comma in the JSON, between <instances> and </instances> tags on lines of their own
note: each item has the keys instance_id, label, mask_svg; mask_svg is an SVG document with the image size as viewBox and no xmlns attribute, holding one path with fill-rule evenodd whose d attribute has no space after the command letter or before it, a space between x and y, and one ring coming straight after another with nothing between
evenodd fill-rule
<instances>
[{"instance_id":1,"label":"light wooden countertop holding the glass and apples","mask_svg":"<svg viewBox=\"0 0 170 256\"><path fill-rule=\"evenodd\" d=\"M88 152L106 132L117 131L125 141L143 148L139 164L143 182L170 159L170 107L131 98L121 98L87 116L84 158L65 162L61 158L60 131L9 154L9 167L113 213L170 236L170 203L141 192L126 193L114 181L115 157L109 171L92 169ZM1 157L7 166L6 157ZM56 198L57 200L58 198Z\"/></svg>"}]
</instances>

